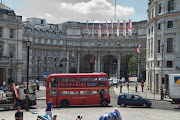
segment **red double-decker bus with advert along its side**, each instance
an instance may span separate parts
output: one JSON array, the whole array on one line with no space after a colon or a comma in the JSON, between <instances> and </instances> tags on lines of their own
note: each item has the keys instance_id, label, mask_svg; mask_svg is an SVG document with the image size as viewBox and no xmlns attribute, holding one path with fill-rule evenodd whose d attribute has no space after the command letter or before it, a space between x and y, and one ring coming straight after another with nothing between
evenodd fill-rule
<instances>
[{"instance_id":1,"label":"red double-decker bus with advert along its side","mask_svg":"<svg viewBox=\"0 0 180 120\"><path fill-rule=\"evenodd\" d=\"M50 98L53 106L108 106L108 76L106 73L51 74L47 78L46 103Z\"/></svg>"}]
</instances>

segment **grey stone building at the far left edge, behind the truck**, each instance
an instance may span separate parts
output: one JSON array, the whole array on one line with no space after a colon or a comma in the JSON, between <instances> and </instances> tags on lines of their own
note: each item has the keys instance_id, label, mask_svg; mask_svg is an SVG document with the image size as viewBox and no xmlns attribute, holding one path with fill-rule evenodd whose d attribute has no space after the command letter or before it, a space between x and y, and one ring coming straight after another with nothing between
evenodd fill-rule
<instances>
[{"instance_id":1,"label":"grey stone building at the far left edge, behind the truck","mask_svg":"<svg viewBox=\"0 0 180 120\"><path fill-rule=\"evenodd\" d=\"M0 4L0 86L22 78L22 17Z\"/></svg>"}]
</instances>

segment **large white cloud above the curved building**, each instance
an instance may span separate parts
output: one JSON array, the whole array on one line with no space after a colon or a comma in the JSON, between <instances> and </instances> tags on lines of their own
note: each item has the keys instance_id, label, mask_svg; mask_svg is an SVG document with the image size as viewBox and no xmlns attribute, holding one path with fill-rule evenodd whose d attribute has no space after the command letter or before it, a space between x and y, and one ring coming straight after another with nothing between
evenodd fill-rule
<instances>
[{"instance_id":1,"label":"large white cloud above the curved building","mask_svg":"<svg viewBox=\"0 0 180 120\"><path fill-rule=\"evenodd\" d=\"M85 22L94 20L113 19L114 5L106 0L89 0L82 2L64 2L64 0L31 0L29 8L15 11L17 14L28 17L45 18L48 23L62 23L66 21ZM117 19L127 19L134 14L133 7L117 5Z\"/></svg>"}]
</instances>

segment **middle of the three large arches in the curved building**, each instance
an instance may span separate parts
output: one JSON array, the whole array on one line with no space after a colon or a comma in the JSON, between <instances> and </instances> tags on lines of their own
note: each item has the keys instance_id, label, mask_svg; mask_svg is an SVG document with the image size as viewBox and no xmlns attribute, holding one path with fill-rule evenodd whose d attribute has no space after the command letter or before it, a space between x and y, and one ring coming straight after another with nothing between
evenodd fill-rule
<instances>
[{"instance_id":1,"label":"middle of the three large arches in the curved building","mask_svg":"<svg viewBox=\"0 0 180 120\"><path fill-rule=\"evenodd\" d=\"M106 73L108 77L117 77L117 59L112 55L106 55L101 61L102 72Z\"/></svg>"}]
</instances>

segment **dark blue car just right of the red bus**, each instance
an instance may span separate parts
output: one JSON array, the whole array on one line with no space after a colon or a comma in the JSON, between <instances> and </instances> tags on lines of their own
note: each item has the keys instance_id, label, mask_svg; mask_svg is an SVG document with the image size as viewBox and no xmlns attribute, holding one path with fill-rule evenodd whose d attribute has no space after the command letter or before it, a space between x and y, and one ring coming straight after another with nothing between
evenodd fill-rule
<instances>
[{"instance_id":1,"label":"dark blue car just right of the red bus","mask_svg":"<svg viewBox=\"0 0 180 120\"><path fill-rule=\"evenodd\" d=\"M119 95L117 104L121 107L126 107L126 105L150 107L152 105L150 100L135 94Z\"/></svg>"}]
</instances>

